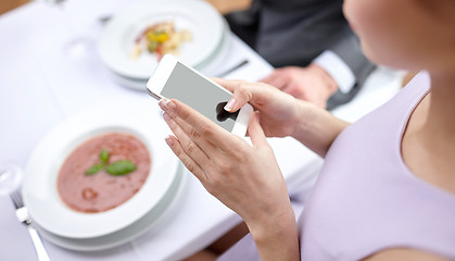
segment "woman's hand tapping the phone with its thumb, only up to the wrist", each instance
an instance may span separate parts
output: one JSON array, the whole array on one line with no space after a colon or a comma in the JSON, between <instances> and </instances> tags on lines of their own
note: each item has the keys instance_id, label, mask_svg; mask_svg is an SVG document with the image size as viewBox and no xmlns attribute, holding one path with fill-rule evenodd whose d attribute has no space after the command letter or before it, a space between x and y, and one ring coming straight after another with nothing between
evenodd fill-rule
<instances>
[{"instance_id":1,"label":"woman's hand tapping the phone with its thumb, only up to the wrist","mask_svg":"<svg viewBox=\"0 0 455 261\"><path fill-rule=\"evenodd\" d=\"M235 112L248 102L261 113L261 126L267 137L292 136L299 119L298 100L270 85L244 80L212 78L233 95L226 111Z\"/></svg>"}]
</instances>

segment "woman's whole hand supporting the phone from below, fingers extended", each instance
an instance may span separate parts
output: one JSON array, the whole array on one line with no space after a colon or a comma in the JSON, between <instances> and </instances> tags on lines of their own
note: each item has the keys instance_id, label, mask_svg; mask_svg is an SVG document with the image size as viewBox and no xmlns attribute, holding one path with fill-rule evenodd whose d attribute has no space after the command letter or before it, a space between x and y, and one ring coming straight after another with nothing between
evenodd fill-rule
<instances>
[{"instance_id":1,"label":"woman's whole hand supporting the phone from below, fingers extended","mask_svg":"<svg viewBox=\"0 0 455 261\"><path fill-rule=\"evenodd\" d=\"M170 149L208 192L243 217L260 254L298 257L294 214L258 113L249 124L250 146L178 100L162 100L160 107L175 135L166 139Z\"/></svg>"}]
</instances>

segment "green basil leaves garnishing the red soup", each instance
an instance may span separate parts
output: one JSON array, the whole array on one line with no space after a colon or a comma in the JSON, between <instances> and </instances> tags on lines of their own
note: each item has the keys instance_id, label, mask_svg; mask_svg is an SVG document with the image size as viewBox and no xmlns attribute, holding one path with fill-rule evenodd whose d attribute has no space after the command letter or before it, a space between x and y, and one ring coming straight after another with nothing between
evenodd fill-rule
<instances>
[{"instance_id":1,"label":"green basil leaves garnishing the red soup","mask_svg":"<svg viewBox=\"0 0 455 261\"><path fill-rule=\"evenodd\" d=\"M136 165L130 162L129 160L121 160L113 162L112 164L108 164L109 162L109 151L102 150L100 152L100 163L92 165L88 169L85 173L86 176L91 176L100 172L101 170L105 170L110 175L113 176L123 176L136 170Z\"/></svg>"}]
</instances>

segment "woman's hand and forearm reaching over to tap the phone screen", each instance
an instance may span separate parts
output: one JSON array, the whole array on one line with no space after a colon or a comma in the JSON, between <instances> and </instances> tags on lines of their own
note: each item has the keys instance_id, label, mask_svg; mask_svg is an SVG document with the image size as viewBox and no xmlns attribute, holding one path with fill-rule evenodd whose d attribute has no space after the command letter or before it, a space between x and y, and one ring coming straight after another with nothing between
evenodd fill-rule
<instances>
[{"instance_id":1,"label":"woman's hand and forearm reaching over to tap the phone screen","mask_svg":"<svg viewBox=\"0 0 455 261\"><path fill-rule=\"evenodd\" d=\"M325 157L337 136L349 125L328 111L267 85L213 78L233 95L227 111L247 102L261 112L261 126L267 137L292 136Z\"/></svg>"}]
</instances>

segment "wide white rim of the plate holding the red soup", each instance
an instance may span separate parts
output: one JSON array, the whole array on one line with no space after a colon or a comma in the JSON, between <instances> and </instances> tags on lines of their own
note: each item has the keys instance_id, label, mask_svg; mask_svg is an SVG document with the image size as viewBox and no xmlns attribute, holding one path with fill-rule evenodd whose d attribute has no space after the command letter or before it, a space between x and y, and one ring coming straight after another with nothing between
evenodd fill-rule
<instances>
[{"instance_id":1,"label":"wide white rim of the plate holding the red soup","mask_svg":"<svg viewBox=\"0 0 455 261\"><path fill-rule=\"evenodd\" d=\"M128 105L87 110L64 121L40 141L27 163L23 183L25 206L40 227L68 238L100 237L131 225L156 208L178 178L178 159L164 141L167 126L148 109ZM152 167L148 179L135 196L112 210L81 213L69 209L56 189L60 166L81 142L113 130L135 135L149 149Z\"/></svg>"}]
</instances>

